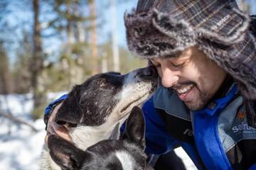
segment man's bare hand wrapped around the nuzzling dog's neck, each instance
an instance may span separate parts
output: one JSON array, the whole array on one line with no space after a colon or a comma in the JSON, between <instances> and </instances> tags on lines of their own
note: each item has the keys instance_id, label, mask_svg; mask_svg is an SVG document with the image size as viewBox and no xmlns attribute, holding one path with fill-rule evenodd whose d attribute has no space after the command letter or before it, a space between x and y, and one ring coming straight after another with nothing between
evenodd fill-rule
<instances>
[{"instance_id":1,"label":"man's bare hand wrapped around the nuzzling dog's neck","mask_svg":"<svg viewBox=\"0 0 256 170\"><path fill-rule=\"evenodd\" d=\"M55 108L53 109L53 113L51 113L48 120L48 125L46 129L46 143L48 142L48 135L51 134L58 135L60 137L63 137L63 139L71 142L70 135L68 135L68 130L63 125L58 125L57 123L55 123L55 117L61 105L62 103L60 103L58 106L55 106Z\"/></svg>"}]
</instances>

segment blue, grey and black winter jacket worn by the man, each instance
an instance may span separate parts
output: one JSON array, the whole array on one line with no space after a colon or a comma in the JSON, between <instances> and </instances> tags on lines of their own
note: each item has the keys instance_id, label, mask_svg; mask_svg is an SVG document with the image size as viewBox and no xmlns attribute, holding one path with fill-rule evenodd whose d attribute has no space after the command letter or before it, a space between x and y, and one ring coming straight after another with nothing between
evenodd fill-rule
<instances>
[{"instance_id":1,"label":"blue, grey and black winter jacket worn by the man","mask_svg":"<svg viewBox=\"0 0 256 170\"><path fill-rule=\"evenodd\" d=\"M65 99L50 103L48 113ZM246 102L235 84L201 111L188 111L178 96L162 86L142 107L146 152L164 154L183 147L198 169L256 169L256 129L247 125Z\"/></svg>"}]
</instances>

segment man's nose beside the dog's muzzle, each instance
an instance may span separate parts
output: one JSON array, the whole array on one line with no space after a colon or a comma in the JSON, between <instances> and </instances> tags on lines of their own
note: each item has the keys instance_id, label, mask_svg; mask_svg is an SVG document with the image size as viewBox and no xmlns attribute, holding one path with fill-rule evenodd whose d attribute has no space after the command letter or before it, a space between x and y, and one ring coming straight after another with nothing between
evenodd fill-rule
<instances>
[{"instance_id":1,"label":"man's nose beside the dog's muzzle","mask_svg":"<svg viewBox=\"0 0 256 170\"><path fill-rule=\"evenodd\" d=\"M178 75L168 68L162 68L161 70L161 84L169 88L178 82Z\"/></svg>"}]
</instances>

